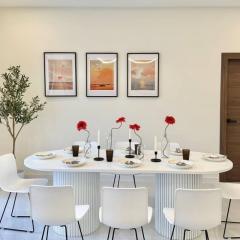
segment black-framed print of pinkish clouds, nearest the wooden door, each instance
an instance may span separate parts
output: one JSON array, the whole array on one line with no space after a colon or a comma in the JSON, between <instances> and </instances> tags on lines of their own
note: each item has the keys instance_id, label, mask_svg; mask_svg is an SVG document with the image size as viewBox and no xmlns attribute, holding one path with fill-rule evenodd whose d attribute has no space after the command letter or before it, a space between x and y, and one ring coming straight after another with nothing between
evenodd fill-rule
<instances>
[{"instance_id":1,"label":"black-framed print of pinkish clouds, nearest the wooden door","mask_svg":"<svg viewBox=\"0 0 240 240\"><path fill-rule=\"evenodd\" d=\"M127 96L159 96L159 53L127 54Z\"/></svg>"}]
</instances>

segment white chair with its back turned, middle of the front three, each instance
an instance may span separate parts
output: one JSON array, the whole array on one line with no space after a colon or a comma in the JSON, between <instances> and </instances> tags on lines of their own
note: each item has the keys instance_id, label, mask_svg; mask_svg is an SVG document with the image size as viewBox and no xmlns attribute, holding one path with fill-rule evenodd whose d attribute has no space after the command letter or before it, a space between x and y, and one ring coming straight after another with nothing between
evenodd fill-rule
<instances>
[{"instance_id":1,"label":"white chair with its back turned, middle of the front three","mask_svg":"<svg viewBox=\"0 0 240 240\"><path fill-rule=\"evenodd\" d=\"M148 206L147 188L111 188L102 189L100 222L109 227L107 239L112 240L116 229L134 229L138 239L137 228L141 228L145 240L143 226L152 219L152 208Z\"/></svg>"}]
</instances>

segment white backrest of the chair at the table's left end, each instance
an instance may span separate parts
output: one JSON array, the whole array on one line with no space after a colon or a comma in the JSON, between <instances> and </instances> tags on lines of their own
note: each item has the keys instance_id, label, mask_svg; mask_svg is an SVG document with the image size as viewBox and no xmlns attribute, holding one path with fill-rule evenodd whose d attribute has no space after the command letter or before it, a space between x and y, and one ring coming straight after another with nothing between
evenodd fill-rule
<instances>
[{"instance_id":1,"label":"white backrest of the chair at the table's left end","mask_svg":"<svg viewBox=\"0 0 240 240\"><path fill-rule=\"evenodd\" d=\"M0 188L11 185L18 179L16 160L12 153L0 156Z\"/></svg>"}]
</instances>

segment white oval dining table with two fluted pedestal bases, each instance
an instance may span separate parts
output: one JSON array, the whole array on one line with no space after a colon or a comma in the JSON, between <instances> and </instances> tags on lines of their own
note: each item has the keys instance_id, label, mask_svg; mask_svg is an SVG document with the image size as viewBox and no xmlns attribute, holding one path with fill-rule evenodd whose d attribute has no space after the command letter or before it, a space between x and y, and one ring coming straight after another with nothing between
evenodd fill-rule
<instances>
[{"instance_id":1,"label":"white oval dining table with two fluted pedestal bases","mask_svg":"<svg viewBox=\"0 0 240 240\"><path fill-rule=\"evenodd\" d=\"M84 234L90 234L99 227L98 210L100 207L100 174L154 174L155 175L155 229L167 238L170 238L172 226L166 221L163 215L164 207L174 206L174 194L177 188L200 188L202 175L219 174L232 169L230 160L223 162L209 162L202 159L203 153L191 152L190 160L193 162L191 169L175 169L168 165L167 159L162 162L151 162L153 151L144 151L143 164L137 168L126 168L118 164L124 159L124 151L115 150L113 162L94 161L87 159L83 166L70 168L63 164L63 160L71 155L64 150L51 151L56 154L55 158L40 160L34 155L27 157L24 164L27 168L37 171L53 173L53 185L72 185L75 193L76 204L89 204L90 210L83 218L81 225ZM94 155L94 154L93 154ZM104 151L101 152L104 155ZM178 159L181 156L170 156ZM61 233L61 228L57 228ZM79 236L78 227L72 224L69 227L71 236ZM190 239L199 235L199 232L192 231ZM182 229L176 228L174 238L182 237Z\"/></svg>"}]
</instances>

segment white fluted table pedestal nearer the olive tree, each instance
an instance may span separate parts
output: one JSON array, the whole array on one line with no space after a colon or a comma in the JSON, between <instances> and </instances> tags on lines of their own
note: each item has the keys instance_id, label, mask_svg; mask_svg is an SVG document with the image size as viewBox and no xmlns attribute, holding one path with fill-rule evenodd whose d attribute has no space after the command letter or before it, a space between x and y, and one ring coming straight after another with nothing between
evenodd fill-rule
<instances>
[{"instance_id":1,"label":"white fluted table pedestal nearer the olive tree","mask_svg":"<svg viewBox=\"0 0 240 240\"><path fill-rule=\"evenodd\" d=\"M53 185L71 185L74 189L75 203L90 205L88 213L80 221L80 224L84 235L96 231L99 226L100 173L54 172ZM64 234L64 229L61 227L55 227L54 230L59 234ZM80 236L77 224L68 226L68 234L71 237Z\"/></svg>"}]
</instances>

